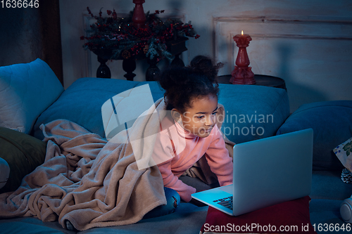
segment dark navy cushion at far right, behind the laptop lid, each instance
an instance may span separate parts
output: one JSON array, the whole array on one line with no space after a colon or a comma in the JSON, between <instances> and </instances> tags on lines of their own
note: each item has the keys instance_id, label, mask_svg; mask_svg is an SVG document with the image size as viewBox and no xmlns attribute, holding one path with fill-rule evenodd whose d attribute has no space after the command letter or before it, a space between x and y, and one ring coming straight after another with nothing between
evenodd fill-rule
<instances>
[{"instance_id":1,"label":"dark navy cushion at far right, behind the laptop lid","mask_svg":"<svg viewBox=\"0 0 352 234\"><path fill-rule=\"evenodd\" d=\"M313 169L342 169L332 151L352 136L352 100L332 100L301 105L282 124L277 134L312 128Z\"/></svg>"}]
</instances>

